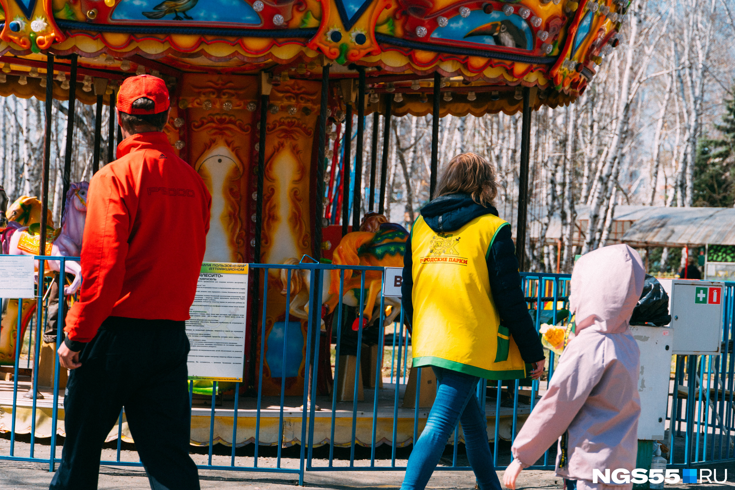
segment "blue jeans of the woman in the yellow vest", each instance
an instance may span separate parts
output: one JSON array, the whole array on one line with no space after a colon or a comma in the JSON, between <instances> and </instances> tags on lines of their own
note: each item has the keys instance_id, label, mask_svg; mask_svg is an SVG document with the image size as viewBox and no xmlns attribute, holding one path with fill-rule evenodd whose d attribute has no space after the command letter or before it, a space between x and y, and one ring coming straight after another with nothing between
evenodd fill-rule
<instances>
[{"instance_id":1,"label":"blue jeans of the woman in the yellow vest","mask_svg":"<svg viewBox=\"0 0 735 490\"><path fill-rule=\"evenodd\" d=\"M480 490L501 490L487 442L487 418L476 395L479 378L443 367L431 369L437 375L437 398L409 457L401 490L426 488L457 422L462 423L467 459Z\"/></svg>"}]
</instances>

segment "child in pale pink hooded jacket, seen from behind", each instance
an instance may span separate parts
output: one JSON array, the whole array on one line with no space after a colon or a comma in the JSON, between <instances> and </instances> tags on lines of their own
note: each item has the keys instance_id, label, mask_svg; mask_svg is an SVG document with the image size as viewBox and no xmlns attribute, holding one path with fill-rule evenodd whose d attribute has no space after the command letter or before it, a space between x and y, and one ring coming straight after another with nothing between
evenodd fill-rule
<instances>
[{"instance_id":1,"label":"child in pale pink hooded jacket, seen from behind","mask_svg":"<svg viewBox=\"0 0 735 490\"><path fill-rule=\"evenodd\" d=\"M536 463L556 439L556 475L567 487L576 480L578 490L632 488L592 483L592 469L635 468L640 353L628 320L644 278L640 256L628 245L603 247L577 261L569 298L576 337L513 442L503 478L507 488L515 489L521 469Z\"/></svg>"}]
</instances>

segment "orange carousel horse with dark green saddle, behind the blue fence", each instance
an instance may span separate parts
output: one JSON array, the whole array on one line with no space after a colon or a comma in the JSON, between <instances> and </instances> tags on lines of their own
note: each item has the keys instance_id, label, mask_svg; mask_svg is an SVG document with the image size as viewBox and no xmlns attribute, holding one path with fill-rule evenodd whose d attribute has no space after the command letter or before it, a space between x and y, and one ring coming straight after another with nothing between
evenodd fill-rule
<instances>
[{"instance_id":1,"label":"orange carousel horse with dark green saddle, behind the blue fence","mask_svg":"<svg viewBox=\"0 0 735 490\"><path fill-rule=\"evenodd\" d=\"M362 220L360 231L346 234L340 245L334 250L333 264L340 265L370 265L378 267L403 267L404 251L406 250L408 231L403 226L387 223L384 215L368 213ZM283 264L298 264L297 259L286 259ZM289 312L297 318L309 318L309 270L282 269L282 295L286 295L288 271L291 271L291 303ZM339 303L340 270L331 270L323 275L322 304L326 306L326 313L331 313ZM360 298L360 275L353 277L353 270L344 271L343 304L358 306ZM382 273L377 270L365 272L365 295L363 311L363 328L373 321L373 315L379 314L376 300L382 289ZM401 312L401 300L385 298L385 306L391 306L390 314L385 317L384 325L390 325ZM356 320L359 323L359 320ZM322 320L323 326L323 320ZM357 325L353 325L357 330Z\"/></svg>"}]
</instances>

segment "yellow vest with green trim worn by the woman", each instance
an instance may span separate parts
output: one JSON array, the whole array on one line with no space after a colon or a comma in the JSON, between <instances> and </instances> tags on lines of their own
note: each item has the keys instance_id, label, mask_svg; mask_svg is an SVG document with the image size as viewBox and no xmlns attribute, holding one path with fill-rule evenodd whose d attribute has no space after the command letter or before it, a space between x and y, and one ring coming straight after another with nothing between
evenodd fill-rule
<instances>
[{"instance_id":1,"label":"yellow vest with green trim worn by the woman","mask_svg":"<svg viewBox=\"0 0 735 490\"><path fill-rule=\"evenodd\" d=\"M508 222L476 217L437 233L419 217L411 229L414 366L437 366L491 380L526 377L526 364L490 291L487 254Z\"/></svg>"}]
</instances>

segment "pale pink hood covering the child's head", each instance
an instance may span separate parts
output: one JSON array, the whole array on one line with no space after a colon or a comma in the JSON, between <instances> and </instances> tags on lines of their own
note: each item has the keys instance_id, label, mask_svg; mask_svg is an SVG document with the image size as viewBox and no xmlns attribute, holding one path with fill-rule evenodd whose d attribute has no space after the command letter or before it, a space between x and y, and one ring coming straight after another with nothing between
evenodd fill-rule
<instances>
[{"instance_id":1,"label":"pale pink hood covering the child's head","mask_svg":"<svg viewBox=\"0 0 735 490\"><path fill-rule=\"evenodd\" d=\"M581 256L572 272L569 296L576 332L583 328L625 332L644 280L643 262L628 245L610 245Z\"/></svg>"}]
</instances>

